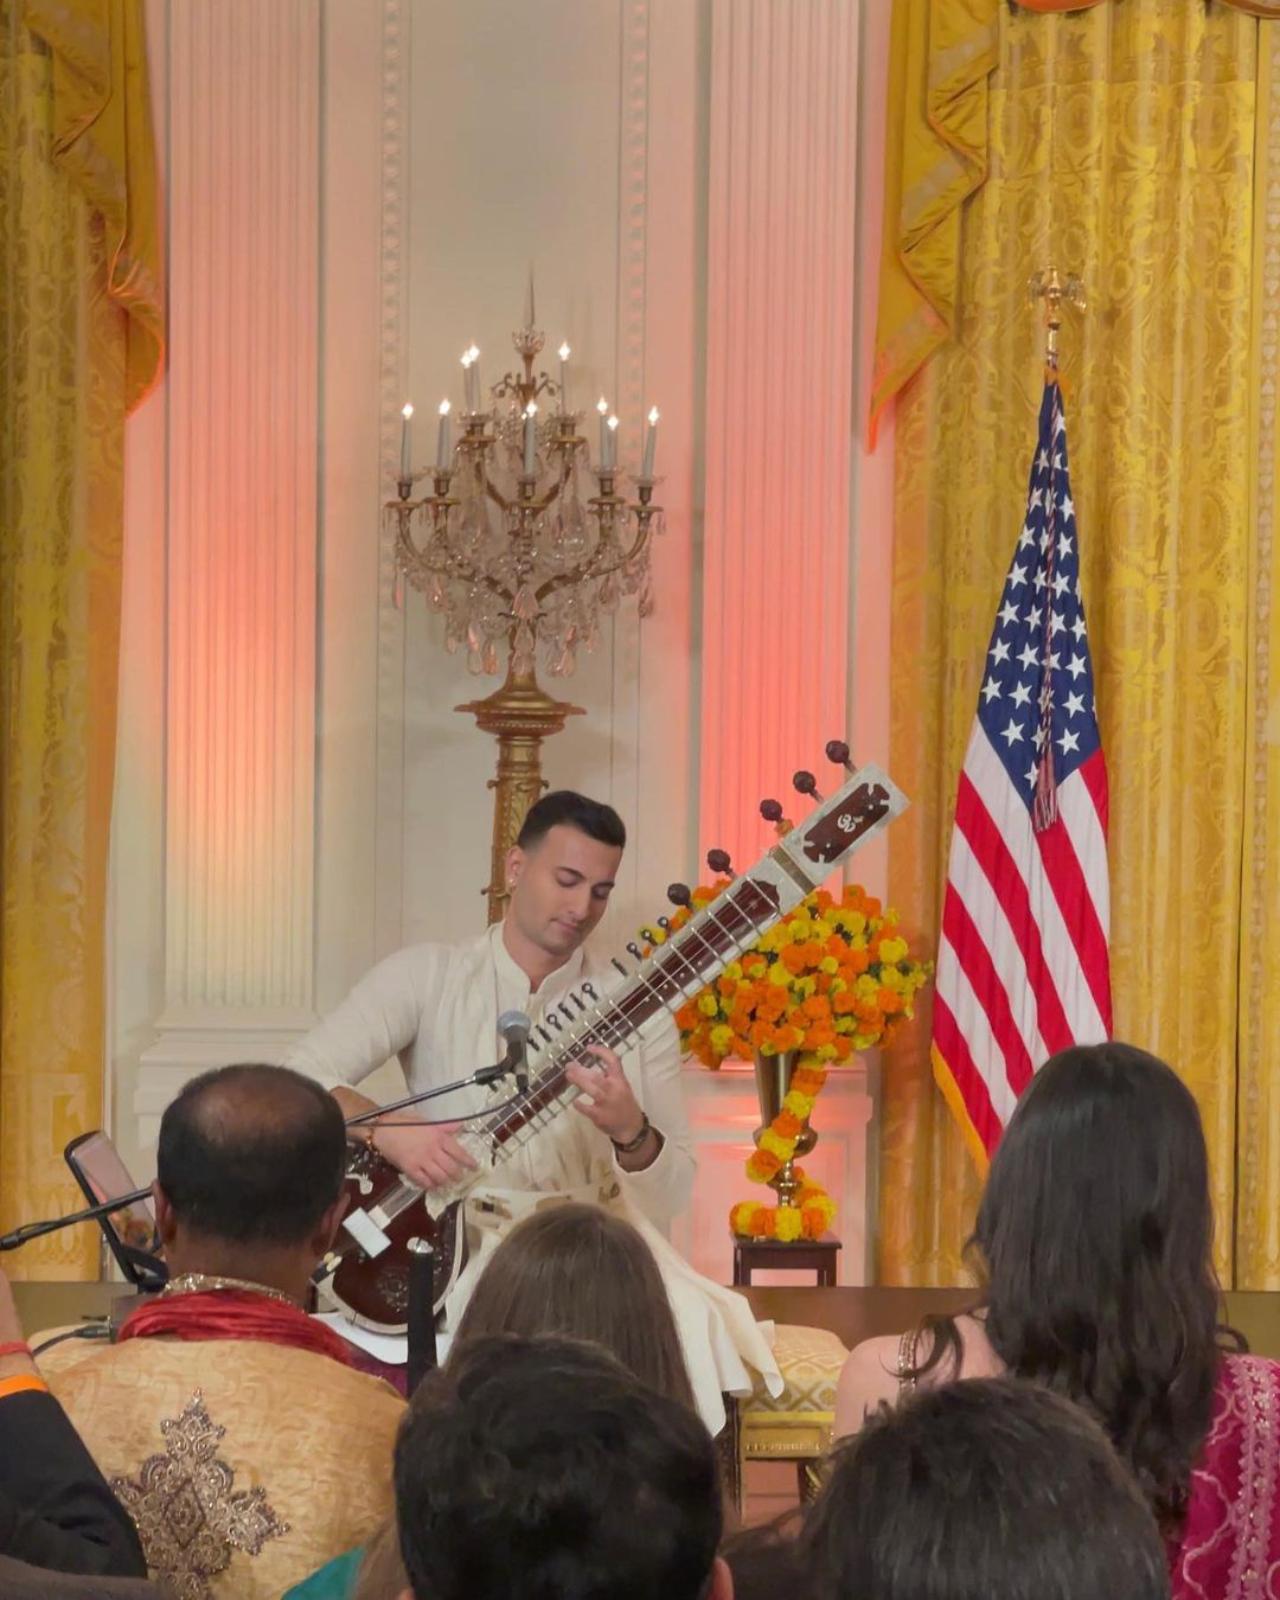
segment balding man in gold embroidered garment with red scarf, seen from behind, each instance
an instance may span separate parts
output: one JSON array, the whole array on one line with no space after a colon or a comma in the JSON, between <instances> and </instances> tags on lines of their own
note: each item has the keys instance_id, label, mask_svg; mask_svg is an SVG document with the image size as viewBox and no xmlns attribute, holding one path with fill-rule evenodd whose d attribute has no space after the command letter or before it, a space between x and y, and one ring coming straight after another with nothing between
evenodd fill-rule
<instances>
[{"instance_id":1,"label":"balding man in gold embroidered garment with red scarf, seen from behind","mask_svg":"<svg viewBox=\"0 0 1280 1600\"><path fill-rule=\"evenodd\" d=\"M176 1594L274 1600L389 1512L403 1402L306 1309L344 1173L342 1115L310 1078L194 1078L152 1189L170 1282L117 1344L50 1373Z\"/></svg>"}]
</instances>

